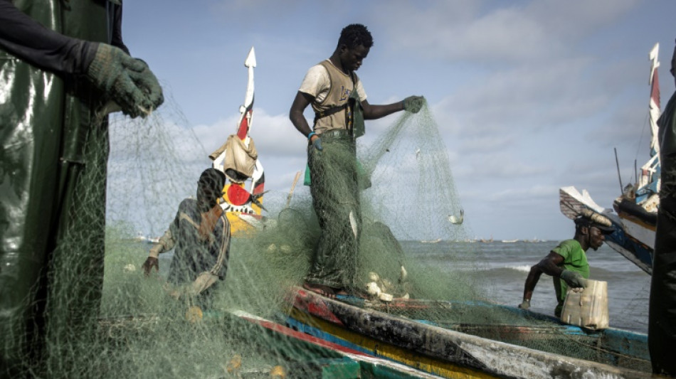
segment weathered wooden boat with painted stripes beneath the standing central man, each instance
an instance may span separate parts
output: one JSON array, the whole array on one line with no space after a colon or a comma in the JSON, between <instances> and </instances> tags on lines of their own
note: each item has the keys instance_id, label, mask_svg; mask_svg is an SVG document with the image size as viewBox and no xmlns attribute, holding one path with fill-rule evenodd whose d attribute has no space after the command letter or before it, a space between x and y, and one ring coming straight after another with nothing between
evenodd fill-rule
<instances>
[{"instance_id":1,"label":"weathered wooden boat with painted stripes beneath the standing central man","mask_svg":"<svg viewBox=\"0 0 676 379\"><path fill-rule=\"evenodd\" d=\"M292 329L443 378L652 377L642 333L590 331L487 303L329 299L297 287L287 301ZM454 321L411 317L426 312ZM500 316L502 324L463 320L482 312L513 317Z\"/></svg>"}]
</instances>

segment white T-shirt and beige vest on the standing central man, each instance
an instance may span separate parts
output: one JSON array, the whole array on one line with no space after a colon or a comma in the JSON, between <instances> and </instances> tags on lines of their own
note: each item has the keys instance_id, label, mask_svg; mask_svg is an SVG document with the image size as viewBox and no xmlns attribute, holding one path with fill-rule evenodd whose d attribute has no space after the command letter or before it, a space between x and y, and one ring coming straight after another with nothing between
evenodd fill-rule
<instances>
[{"instance_id":1,"label":"white T-shirt and beige vest on the standing central man","mask_svg":"<svg viewBox=\"0 0 676 379\"><path fill-rule=\"evenodd\" d=\"M332 72L329 73L328 70L331 70ZM364 101L366 100L366 92L361 85L361 80L359 80L357 74L354 74L354 78L359 99ZM322 112L333 107L341 106L347 102L353 87L355 87L355 85L353 84L350 75L343 73L327 59L318 65L312 66L310 70L307 70L307 74L305 74L305 78L300 85L299 91L315 97L315 101L312 102L312 109L315 110L315 112ZM348 111L345 110L322 117L317 120L313 129L317 134L322 134L322 132L327 130L346 129L347 112Z\"/></svg>"}]
</instances>

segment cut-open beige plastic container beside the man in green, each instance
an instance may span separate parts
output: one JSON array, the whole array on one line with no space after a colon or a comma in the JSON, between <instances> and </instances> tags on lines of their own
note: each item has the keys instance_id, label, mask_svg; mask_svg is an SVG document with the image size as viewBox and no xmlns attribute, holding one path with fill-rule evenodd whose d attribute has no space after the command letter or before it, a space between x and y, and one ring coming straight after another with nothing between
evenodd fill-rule
<instances>
[{"instance_id":1,"label":"cut-open beige plastic container beside the man in green","mask_svg":"<svg viewBox=\"0 0 676 379\"><path fill-rule=\"evenodd\" d=\"M582 292L569 288L561 321L587 329L608 328L608 282L587 279Z\"/></svg>"}]
</instances>

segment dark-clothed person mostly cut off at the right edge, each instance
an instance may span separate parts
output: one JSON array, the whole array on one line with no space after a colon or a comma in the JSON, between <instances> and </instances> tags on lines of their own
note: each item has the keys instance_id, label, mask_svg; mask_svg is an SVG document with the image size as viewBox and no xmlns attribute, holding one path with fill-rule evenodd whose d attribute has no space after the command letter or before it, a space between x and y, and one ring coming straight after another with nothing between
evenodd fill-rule
<instances>
[{"instance_id":1,"label":"dark-clothed person mostly cut off at the right edge","mask_svg":"<svg viewBox=\"0 0 676 379\"><path fill-rule=\"evenodd\" d=\"M671 75L676 83L676 47L671 58ZM653 373L676 376L676 360L671 353L676 344L676 92L657 125L662 186L650 282L648 348Z\"/></svg>"}]
</instances>

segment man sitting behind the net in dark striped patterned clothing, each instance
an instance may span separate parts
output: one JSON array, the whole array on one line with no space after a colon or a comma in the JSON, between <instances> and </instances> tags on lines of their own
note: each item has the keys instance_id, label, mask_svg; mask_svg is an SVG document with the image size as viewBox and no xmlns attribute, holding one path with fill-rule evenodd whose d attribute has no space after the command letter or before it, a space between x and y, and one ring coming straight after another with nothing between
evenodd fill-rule
<instances>
[{"instance_id":1,"label":"man sitting behind the net in dark striped patterned clothing","mask_svg":"<svg viewBox=\"0 0 676 379\"><path fill-rule=\"evenodd\" d=\"M197 199L181 201L174 221L142 266L145 274L153 268L159 271L159 255L174 249L169 294L176 299L187 296L202 309L211 306L210 295L228 270L230 223L218 205L225 183L223 172L206 169L197 182Z\"/></svg>"}]
</instances>

